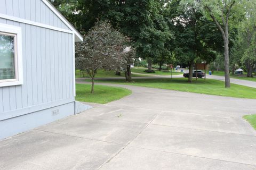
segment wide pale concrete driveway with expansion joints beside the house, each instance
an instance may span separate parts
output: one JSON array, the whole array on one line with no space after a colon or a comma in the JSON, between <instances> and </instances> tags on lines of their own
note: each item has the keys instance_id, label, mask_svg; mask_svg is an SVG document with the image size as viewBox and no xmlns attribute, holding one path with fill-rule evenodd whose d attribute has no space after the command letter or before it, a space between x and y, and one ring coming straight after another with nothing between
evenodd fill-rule
<instances>
[{"instance_id":1,"label":"wide pale concrete driveway with expansion joints beside the house","mask_svg":"<svg viewBox=\"0 0 256 170\"><path fill-rule=\"evenodd\" d=\"M256 169L256 100L115 86L133 94L0 141L0 169Z\"/></svg>"}]
</instances>

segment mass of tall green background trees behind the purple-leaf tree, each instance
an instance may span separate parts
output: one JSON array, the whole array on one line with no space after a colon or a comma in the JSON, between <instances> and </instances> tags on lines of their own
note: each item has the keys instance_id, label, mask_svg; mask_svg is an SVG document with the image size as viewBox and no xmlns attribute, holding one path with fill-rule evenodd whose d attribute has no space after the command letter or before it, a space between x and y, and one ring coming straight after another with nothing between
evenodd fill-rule
<instances>
[{"instance_id":1,"label":"mass of tall green background trees behind the purple-leaf tree","mask_svg":"<svg viewBox=\"0 0 256 170\"><path fill-rule=\"evenodd\" d=\"M152 64L194 64L224 60L225 87L229 71L255 64L255 2L246 0L51 0L75 27L87 34L98 21L130 37L132 63L141 57ZM111 48L109 49L111 50ZM222 55L223 54L223 55ZM126 54L129 56L128 54ZM217 58L217 59L215 59ZM129 66L127 64L126 66ZM213 64L215 65L215 64ZM124 66L125 70L129 67ZM218 66L218 68L221 68ZM128 75L128 74L127 74ZM191 82L192 78L188 79ZM127 79L126 79L127 80Z\"/></svg>"}]
</instances>

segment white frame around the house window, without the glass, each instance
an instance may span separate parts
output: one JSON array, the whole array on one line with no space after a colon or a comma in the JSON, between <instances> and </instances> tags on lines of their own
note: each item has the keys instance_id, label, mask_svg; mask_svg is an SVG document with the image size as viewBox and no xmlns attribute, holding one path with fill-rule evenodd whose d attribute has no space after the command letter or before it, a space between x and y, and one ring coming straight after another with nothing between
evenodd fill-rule
<instances>
[{"instance_id":1,"label":"white frame around the house window, without the glass","mask_svg":"<svg viewBox=\"0 0 256 170\"><path fill-rule=\"evenodd\" d=\"M23 84L23 67L22 67L22 31L21 27L0 23L0 33L13 36L15 48L15 79L0 80L0 87L16 86Z\"/></svg>"}]
</instances>

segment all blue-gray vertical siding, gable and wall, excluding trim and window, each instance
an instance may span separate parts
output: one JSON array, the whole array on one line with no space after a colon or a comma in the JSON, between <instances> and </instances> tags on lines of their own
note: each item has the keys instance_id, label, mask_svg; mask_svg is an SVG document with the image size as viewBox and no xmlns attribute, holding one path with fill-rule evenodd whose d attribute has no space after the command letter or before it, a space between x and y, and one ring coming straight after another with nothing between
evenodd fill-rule
<instances>
[{"instance_id":1,"label":"all blue-gray vertical siding, gable and wall, excluding trim and window","mask_svg":"<svg viewBox=\"0 0 256 170\"><path fill-rule=\"evenodd\" d=\"M1 14L70 30L41 0L0 0L0 4ZM2 18L0 23L22 28L23 53L23 84L0 87L0 120L1 113L74 100L73 34Z\"/></svg>"}]
</instances>

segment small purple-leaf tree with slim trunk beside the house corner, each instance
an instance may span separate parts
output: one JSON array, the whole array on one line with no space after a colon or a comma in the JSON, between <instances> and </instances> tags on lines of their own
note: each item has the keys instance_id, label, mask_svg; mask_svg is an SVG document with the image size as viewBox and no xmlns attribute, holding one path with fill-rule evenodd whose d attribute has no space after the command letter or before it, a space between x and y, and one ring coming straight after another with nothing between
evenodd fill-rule
<instances>
[{"instance_id":1,"label":"small purple-leaf tree with slim trunk beside the house corner","mask_svg":"<svg viewBox=\"0 0 256 170\"><path fill-rule=\"evenodd\" d=\"M115 30L108 21L95 23L84 41L76 43L76 69L83 69L92 79L91 93L94 92L95 74L98 69L119 71L127 66L127 56L124 53L130 39ZM129 55L128 55L129 54Z\"/></svg>"}]
</instances>

